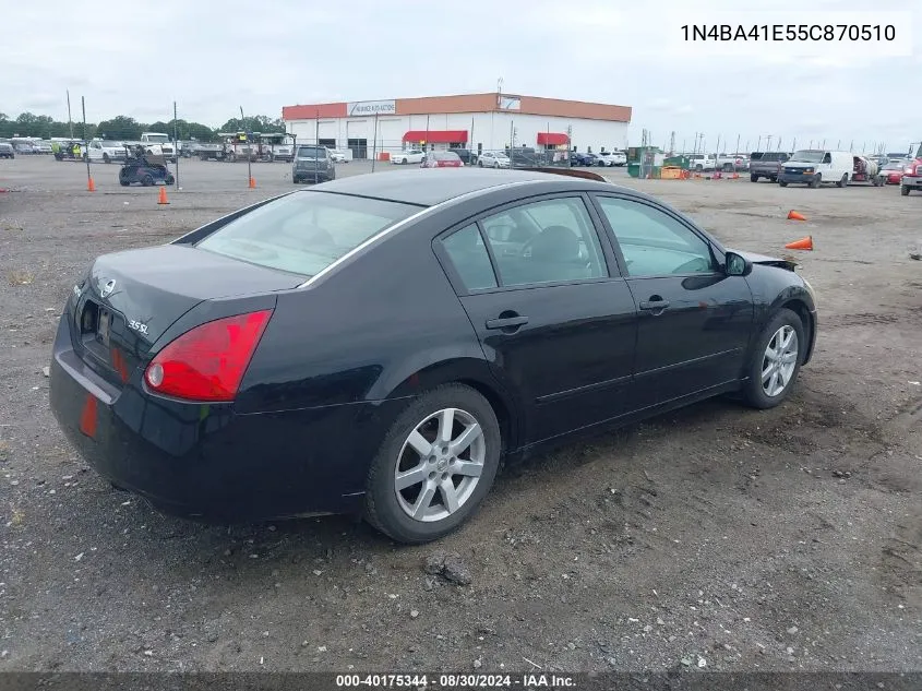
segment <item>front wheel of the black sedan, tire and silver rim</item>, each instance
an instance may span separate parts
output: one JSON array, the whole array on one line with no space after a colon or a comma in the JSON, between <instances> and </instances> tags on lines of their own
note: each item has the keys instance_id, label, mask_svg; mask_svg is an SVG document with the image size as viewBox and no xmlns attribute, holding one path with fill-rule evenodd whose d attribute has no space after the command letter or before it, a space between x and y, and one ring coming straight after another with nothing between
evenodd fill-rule
<instances>
[{"instance_id":1,"label":"front wheel of the black sedan, tire and silver rim","mask_svg":"<svg viewBox=\"0 0 922 691\"><path fill-rule=\"evenodd\" d=\"M754 408L774 408L788 397L806 346L803 322L787 308L768 322L756 342L743 397Z\"/></svg>"}]
</instances>

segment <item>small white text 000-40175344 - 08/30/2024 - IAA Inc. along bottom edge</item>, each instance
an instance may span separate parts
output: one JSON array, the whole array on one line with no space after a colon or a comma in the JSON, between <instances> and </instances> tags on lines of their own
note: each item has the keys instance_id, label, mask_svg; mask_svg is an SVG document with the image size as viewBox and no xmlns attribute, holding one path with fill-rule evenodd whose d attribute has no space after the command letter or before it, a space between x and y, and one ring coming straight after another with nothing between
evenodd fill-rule
<instances>
[{"instance_id":1,"label":"small white text 000-40175344 - 08/30/2024 - IAA Inc. along bottom edge","mask_svg":"<svg viewBox=\"0 0 922 691\"><path fill-rule=\"evenodd\" d=\"M337 689L570 689L577 691L567 675L336 675Z\"/></svg>"}]
</instances>

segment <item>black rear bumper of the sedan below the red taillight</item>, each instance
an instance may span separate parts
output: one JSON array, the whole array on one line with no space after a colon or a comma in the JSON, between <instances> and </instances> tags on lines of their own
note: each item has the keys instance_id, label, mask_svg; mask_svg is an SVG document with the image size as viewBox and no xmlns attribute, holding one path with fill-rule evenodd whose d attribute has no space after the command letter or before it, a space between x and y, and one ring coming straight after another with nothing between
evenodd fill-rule
<instances>
[{"instance_id":1,"label":"black rear bumper of the sedan below the red taillight","mask_svg":"<svg viewBox=\"0 0 922 691\"><path fill-rule=\"evenodd\" d=\"M361 510L369 464L405 401L238 414L152 396L140 371L116 390L79 359L67 322L55 339L51 410L106 479L205 522Z\"/></svg>"}]
</instances>

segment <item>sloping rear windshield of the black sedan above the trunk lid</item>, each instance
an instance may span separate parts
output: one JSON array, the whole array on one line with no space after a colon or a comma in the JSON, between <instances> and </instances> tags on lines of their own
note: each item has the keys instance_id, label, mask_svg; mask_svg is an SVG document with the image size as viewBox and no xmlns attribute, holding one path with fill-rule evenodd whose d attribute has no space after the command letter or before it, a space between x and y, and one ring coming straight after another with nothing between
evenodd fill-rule
<instances>
[{"instance_id":1,"label":"sloping rear windshield of the black sedan above the trunk lid","mask_svg":"<svg viewBox=\"0 0 922 691\"><path fill-rule=\"evenodd\" d=\"M309 277L418 211L399 202L295 192L231 221L196 247Z\"/></svg>"}]
</instances>

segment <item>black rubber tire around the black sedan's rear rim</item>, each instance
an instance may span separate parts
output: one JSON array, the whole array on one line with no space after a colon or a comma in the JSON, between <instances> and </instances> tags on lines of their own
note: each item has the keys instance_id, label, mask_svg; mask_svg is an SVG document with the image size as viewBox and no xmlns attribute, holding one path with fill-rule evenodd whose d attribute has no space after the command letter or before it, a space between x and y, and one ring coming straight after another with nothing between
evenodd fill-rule
<instances>
[{"instance_id":1,"label":"black rubber tire around the black sedan's rear rim","mask_svg":"<svg viewBox=\"0 0 922 691\"><path fill-rule=\"evenodd\" d=\"M480 480L467 501L440 521L422 522L407 515L397 501L394 473L410 432L430 415L444 408L459 408L480 425L486 443ZM392 539L408 545L429 543L447 535L467 521L490 491L500 465L502 438L490 403L464 384L445 384L415 400L391 426L369 469L366 485L366 520Z\"/></svg>"}]
</instances>

